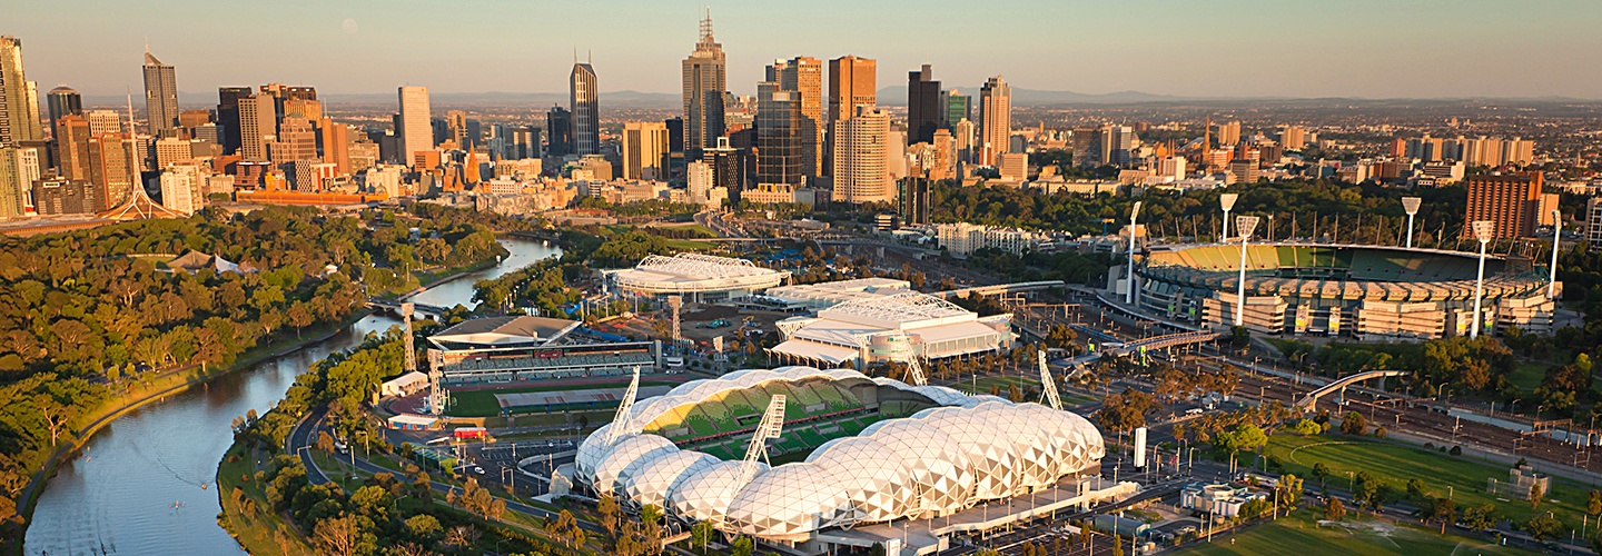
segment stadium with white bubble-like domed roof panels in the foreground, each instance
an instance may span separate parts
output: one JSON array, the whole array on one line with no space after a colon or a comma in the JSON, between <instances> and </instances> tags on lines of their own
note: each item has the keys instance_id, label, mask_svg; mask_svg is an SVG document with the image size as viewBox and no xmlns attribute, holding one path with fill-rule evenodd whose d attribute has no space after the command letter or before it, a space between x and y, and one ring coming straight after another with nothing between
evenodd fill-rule
<instances>
[{"instance_id":1,"label":"stadium with white bubble-like domed roof panels in the foreground","mask_svg":"<svg viewBox=\"0 0 1602 556\"><path fill-rule=\"evenodd\" d=\"M753 436L771 439L766 463ZM803 551L899 542L912 527L928 540L907 548L926 553L936 537L1011 522L1008 510L1024 519L1057 510L1048 503L1129 494L1133 484L1096 477L1104 453L1094 425L1041 404L780 367L689 381L620 410L578 447L572 473L628 506ZM875 532L891 521L900 529Z\"/></svg>"}]
</instances>

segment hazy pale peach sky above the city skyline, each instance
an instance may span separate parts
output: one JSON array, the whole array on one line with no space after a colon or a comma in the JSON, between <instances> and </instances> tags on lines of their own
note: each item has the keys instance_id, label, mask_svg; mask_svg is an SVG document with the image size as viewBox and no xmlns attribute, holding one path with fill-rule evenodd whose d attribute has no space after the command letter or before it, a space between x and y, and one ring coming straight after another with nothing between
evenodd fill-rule
<instances>
[{"instance_id":1,"label":"hazy pale peach sky above the city skyline","mask_svg":"<svg viewBox=\"0 0 1602 556\"><path fill-rule=\"evenodd\" d=\"M1602 98L1597 0L718 2L729 88L774 58L875 58L879 87L934 64L945 87L1184 96ZM602 91L679 91L695 2L6 0L40 90L141 88L144 40L183 93L566 91L574 48ZM191 103L189 98L184 99Z\"/></svg>"}]
</instances>

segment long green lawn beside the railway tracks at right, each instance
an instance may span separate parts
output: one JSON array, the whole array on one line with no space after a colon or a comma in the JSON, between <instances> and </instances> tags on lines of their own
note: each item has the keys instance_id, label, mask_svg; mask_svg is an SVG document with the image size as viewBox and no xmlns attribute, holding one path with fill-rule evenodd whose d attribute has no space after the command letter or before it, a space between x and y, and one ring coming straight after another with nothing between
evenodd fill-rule
<instances>
[{"instance_id":1,"label":"long green lawn beside the railway tracks at right","mask_svg":"<svg viewBox=\"0 0 1602 556\"><path fill-rule=\"evenodd\" d=\"M1434 497L1450 495L1459 508L1490 502L1501 516L1514 522L1524 522L1536 511L1551 511L1565 524L1580 524L1589 492L1589 487L1554 477L1551 492L1538 508L1530 508L1525 500L1503 502L1490 495L1485 484L1490 477L1506 482L1506 466L1370 437L1275 434L1269 437L1267 453L1277 457L1288 473L1302 477L1307 492L1318 492L1312 466L1323 463L1330 468L1330 487L1346 490L1350 482L1347 473L1368 471L1397 492L1405 492L1407 482L1416 477L1424 481L1426 490Z\"/></svg>"}]
</instances>

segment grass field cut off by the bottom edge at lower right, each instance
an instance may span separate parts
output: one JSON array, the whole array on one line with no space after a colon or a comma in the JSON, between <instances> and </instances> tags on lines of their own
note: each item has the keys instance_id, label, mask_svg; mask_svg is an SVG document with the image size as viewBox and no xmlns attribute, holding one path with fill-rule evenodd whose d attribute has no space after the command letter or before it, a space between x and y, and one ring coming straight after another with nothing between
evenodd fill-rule
<instances>
[{"instance_id":1,"label":"grass field cut off by the bottom edge at lower right","mask_svg":"<svg viewBox=\"0 0 1602 556\"><path fill-rule=\"evenodd\" d=\"M1442 537L1432 530L1354 518L1352 513L1347 513L1341 526L1320 527L1320 518L1323 516L1314 510L1298 510L1288 518L1240 534L1213 535L1211 543L1192 545L1174 554L1528 554L1467 537Z\"/></svg>"}]
</instances>

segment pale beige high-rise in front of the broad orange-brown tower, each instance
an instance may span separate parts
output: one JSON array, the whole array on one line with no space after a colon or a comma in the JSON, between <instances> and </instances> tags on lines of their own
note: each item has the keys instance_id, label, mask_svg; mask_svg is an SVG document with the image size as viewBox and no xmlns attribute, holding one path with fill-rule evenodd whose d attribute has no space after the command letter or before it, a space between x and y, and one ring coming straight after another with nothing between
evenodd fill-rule
<instances>
[{"instance_id":1,"label":"pale beige high-rise in front of the broad orange-brown tower","mask_svg":"<svg viewBox=\"0 0 1602 556\"><path fill-rule=\"evenodd\" d=\"M857 106L851 119L835 123L835 202L896 200L886 144L889 133L889 114L871 106Z\"/></svg>"}]
</instances>

